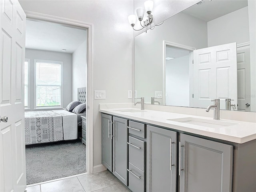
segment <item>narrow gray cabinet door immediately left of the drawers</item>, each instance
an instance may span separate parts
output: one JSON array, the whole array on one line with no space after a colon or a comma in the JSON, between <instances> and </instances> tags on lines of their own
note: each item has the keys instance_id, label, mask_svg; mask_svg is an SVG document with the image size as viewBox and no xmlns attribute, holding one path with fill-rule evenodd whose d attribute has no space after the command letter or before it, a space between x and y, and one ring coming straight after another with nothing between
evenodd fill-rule
<instances>
[{"instance_id":1,"label":"narrow gray cabinet door immediately left of the drawers","mask_svg":"<svg viewBox=\"0 0 256 192\"><path fill-rule=\"evenodd\" d=\"M113 174L127 186L127 120L113 117Z\"/></svg>"}]
</instances>

